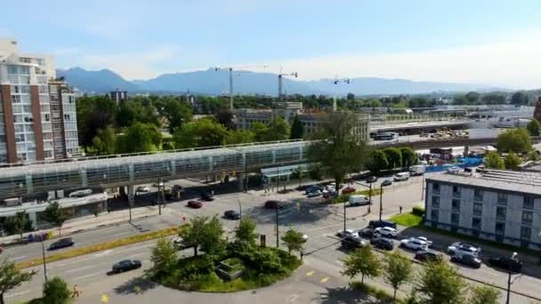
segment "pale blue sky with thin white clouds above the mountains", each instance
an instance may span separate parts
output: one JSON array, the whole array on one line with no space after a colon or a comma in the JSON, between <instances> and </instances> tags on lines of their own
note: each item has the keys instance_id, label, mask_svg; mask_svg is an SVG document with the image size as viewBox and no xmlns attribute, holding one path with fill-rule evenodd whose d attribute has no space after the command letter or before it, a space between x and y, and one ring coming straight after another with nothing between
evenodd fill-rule
<instances>
[{"instance_id":1,"label":"pale blue sky with thin white clouds above the mountains","mask_svg":"<svg viewBox=\"0 0 541 304\"><path fill-rule=\"evenodd\" d=\"M233 67L532 89L539 12L539 0L18 0L2 5L0 36L128 80Z\"/></svg>"}]
</instances>

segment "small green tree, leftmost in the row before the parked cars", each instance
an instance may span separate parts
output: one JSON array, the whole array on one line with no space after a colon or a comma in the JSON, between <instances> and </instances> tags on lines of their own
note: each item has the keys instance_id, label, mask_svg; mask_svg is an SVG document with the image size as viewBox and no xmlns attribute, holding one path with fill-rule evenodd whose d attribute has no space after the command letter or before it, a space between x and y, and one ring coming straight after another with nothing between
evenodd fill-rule
<instances>
[{"instance_id":1,"label":"small green tree, leftmost in the row before the parked cars","mask_svg":"<svg viewBox=\"0 0 541 304\"><path fill-rule=\"evenodd\" d=\"M379 276L383 265L379 258L372 251L372 246L367 245L351 252L343 259L343 276L351 279L360 275L360 283L365 283L365 276L368 278Z\"/></svg>"}]
</instances>

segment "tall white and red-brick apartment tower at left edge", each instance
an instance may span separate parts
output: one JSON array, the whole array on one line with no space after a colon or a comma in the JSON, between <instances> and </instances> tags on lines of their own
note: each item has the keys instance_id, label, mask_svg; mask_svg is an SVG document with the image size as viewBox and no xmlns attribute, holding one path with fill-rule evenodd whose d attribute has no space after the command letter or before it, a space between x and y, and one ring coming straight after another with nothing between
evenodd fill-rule
<instances>
[{"instance_id":1,"label":"tall white and red-brick apartment tower at left edge","mask_svg":"<svg viewBox=\"0 0 541 304\"><path fill-rule=\"evenodd\" d=\"M52 81L55 77L52 56L20 53L16 42L0 39L0 164L65 157L77 150L75 98L69 97L67 84ZM69 104L65 109L63 100Z\"/></svg>"}]
</instances>

